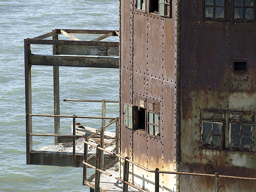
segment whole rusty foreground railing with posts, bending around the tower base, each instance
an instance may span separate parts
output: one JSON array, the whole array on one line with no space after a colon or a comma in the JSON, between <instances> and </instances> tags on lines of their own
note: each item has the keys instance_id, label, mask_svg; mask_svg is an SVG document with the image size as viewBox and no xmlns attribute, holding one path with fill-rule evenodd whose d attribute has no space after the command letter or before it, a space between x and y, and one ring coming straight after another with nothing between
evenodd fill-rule
<instances>
[{"instance_id":1,"label":"whole rusty foreground railing with posts, bending around the tower base","mask_svg":"<svg viewBox=\"0 0 256 192\"><path fill-rule=\"evenodd\" d=\"M102 171L100 169L101 165L99 164L99 160L98 158L100 157L100 151L105 151L106 153L109 153L113 156L116 156L117 158L123 159L124 160L124 170L123 170L123 179L116 177L117 180L122 181L123 182L123 192L127 192L128 191L128 185L131 187L136 188L139 191L142 192L146 192L145 190L143 190L142 188L139 188L135 185L133 185L132 183L128 182L128 176L129 176L129 163L145 170L151 173L155 173L155 192L159 192L159 174L174 174L174 175L191 175L191 176L203 176L203 177L214 177L214 183L215 183L215 192L219 192L219 178L232 178L232 179L237 179L237 180L250 180L250 181L256 181L256 178L250 178L250 177L235 177L235 176L227 176L227 175L219 175L218 172L215 173L215 175L213 174L200 174L200 173L188 173L188 172L175 172L175 171L160 171L158 168L156 168L155 170L151 170L151 169L147 169L146 167L132 161L129 160L129 157L123 157L121 155L118 155L117 153L113 153L111 151L108 151L104 148L101 148L100 145L94 145L91 144L89 142L86 141L86 139L84 140L84 145L87 147L87 145L91 145L94 146L97 150L97 156L96 156L96 167L90 166L91 168L95 169L95 192L100 192L100 173L103 173L105 175L108 176L112 176L111 174ZM86 152L85 152L86 153ZM84 155L85 157L85 155ZM89 166L86 162L86 160L83 161L84 164L84 169L85 166ZM83 183L88 183L86 182L86 171L84 171L83 174Z\"/></svg>"}]
</instances>

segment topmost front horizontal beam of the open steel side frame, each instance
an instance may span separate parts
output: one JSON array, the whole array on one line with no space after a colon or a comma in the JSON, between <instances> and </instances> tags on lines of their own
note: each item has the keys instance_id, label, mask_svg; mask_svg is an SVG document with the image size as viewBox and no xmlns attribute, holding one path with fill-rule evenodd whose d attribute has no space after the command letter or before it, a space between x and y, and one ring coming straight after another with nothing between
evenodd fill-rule
<instances>
[{"instance_id":1,"label":"topmost front horizontal beam of the open steel side frame","mask_svg":"<svg viewBox=\"0 0 256 192\"><path fill-rule=\"evenodd\" d=\"M71 40L52 40L52 39L26 39L27 44L41 45L66 45L66 46L101 46L118 47L119 42L110 41L71 41Z\"/></svg>"}]
</instances>

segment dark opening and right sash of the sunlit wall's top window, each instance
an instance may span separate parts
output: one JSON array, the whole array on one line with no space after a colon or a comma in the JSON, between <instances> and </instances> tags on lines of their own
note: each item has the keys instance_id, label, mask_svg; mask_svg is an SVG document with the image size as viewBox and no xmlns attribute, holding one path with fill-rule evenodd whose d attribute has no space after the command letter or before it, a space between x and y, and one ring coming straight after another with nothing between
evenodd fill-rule
<instances>
[{"instance_id":1,"label":"dark opening and right sash of the sunlit wall's top window","mask_svg":"<svg viewBox=\"0 0 256 192\"><path fill-rule=\"evenodd\" d=\"M171 0L151 0L149 12L170 17Z\"/></svg>"}]
</instances>

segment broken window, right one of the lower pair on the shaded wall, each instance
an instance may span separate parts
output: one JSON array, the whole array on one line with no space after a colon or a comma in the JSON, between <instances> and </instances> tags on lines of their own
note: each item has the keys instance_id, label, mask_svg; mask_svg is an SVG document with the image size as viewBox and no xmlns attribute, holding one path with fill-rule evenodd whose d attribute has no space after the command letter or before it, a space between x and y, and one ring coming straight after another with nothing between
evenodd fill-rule
<instances>
[{"instance_id":1,"label":"broken window, right one of the lower pair on the shaded wall","mask_svg":"<svg viewBox=\"0 0 256 192\"><path fill-rule=\"evenodd\" d=\"M230 123L230 149L252 150L252 125Z\"/></svg>"}]
</instances>

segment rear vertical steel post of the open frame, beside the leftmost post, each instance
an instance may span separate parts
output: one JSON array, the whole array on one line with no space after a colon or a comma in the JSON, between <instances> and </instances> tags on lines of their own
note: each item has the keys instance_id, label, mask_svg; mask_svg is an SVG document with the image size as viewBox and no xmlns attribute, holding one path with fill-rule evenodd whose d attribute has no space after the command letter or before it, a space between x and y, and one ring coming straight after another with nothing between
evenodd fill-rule
<instances>
[{"instance_id":1,"label":"rear vertical steel post of the open frame, beside the leftmost post","mask_svg":"<svg viewBox=\"0 0 256 192\"><path fill-rule=\"evenodd\" d=\"M53 36L54 40L58 40L58 34ZM57 55L57 46L53 45L53 55ZM53 105L54 114L60 114L59 105L59 66L53 66ZM54 134L60 134L60 118L54 117ZM54 144L58 144L58 137L54 137Z\"/></svg>"}]
</instances>

